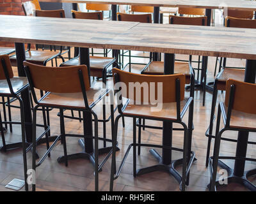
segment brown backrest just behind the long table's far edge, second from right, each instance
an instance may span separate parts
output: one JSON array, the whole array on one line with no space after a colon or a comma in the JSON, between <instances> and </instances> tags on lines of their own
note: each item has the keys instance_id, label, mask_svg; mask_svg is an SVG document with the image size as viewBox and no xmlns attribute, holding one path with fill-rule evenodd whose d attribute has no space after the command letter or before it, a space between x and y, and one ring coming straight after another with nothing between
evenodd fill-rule
<instances>
[{"instance_id":1,"label":"brown backrest just behind the long table's far edge, second from right","mask_svg":"<svg viewBox=\"0 0 256 204\"><path fill-rule=\"evenodd\" d=\"M177 17L169 15L169 24L207 25L207 17Z\"/></svg>"}]
</instances>

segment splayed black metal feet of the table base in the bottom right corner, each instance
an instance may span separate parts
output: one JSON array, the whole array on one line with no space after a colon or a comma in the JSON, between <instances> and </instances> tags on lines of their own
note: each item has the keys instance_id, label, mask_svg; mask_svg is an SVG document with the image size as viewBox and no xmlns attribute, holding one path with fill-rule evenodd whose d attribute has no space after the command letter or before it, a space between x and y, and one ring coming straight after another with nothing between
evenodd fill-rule
<instances>
[{"instance_id":1,"label":"splayed black metal feet of the table base in the bottom right corner","mask_svg":"<svg viewBox=\"0 0 256 204\"><path fill-rule=\"evenodd\" d=\"M227 170L228 177L224 178L224 180L227 179L227 184L220 184L220 180L216 180L216 187L227 186L230 183L237 183L246 187L250 191L256 191L256 186L248 180L248 177L256 175L256 169L245 171L244 174L241 177L239 177L237 175L234 175L234 170L227 166L227 164L223 163L223 161L218 161L218 166L220 166L220 168ZM208 185L208 187L210 187L210 184Z\"/></svg>"}]
</instances>

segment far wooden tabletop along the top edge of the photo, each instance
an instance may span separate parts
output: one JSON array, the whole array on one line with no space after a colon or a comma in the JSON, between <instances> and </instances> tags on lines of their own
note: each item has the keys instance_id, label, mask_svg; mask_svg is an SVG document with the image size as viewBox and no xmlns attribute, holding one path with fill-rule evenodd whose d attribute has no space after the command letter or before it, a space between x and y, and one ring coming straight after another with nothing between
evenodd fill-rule
<instances>
[{"instance_id":1,"label":"far wooden tabletop along the top edge of the photo","mask_svg":"<svg viewBox=\"0 0 256 204\"><path fill-rule=\"evenodd\" d=\"M98 3L98 4L120 4L138 6L159 6L159 7L191 7L232 10L256 10L256 1L243 0L39 0L41 2L60 3Z\"/></svg>"}]
</instances>

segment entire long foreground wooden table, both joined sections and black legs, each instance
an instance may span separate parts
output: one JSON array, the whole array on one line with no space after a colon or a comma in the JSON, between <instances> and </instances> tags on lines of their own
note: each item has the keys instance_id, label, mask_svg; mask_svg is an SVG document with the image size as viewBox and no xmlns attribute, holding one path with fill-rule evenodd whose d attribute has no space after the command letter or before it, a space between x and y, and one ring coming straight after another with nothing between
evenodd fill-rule
<instances>
[{"instance_id":1,"label":"entire long foreground wooden table, both joined sections and black legs","mask_svg":"<svg viewBox=\"0 0 256 204\"><path fill-rule=\"evenodd\" d=\"M18 17L0 15L4 28L0 30L0 41L15 41L19 75L24 76L22 61L25 59L23 43L49 45L67 45L80 48L81 64L89 65L88 47L140 50L164 53L164 73L173 73L175 54L203 55L207 57L230 57L246 59L244 80L255 82L256 71L256 31L255 29L236 29L230 27L202 27L193 25L138 24L131 22L111 22L99 20L77 20L63 18ZM44 25L44 26L42 26ZM66 26L68 25L68 26ZM86 25L86 26L85 26ZM17 32L19 31L19 32ZM88 66L88 69L90 67ZM26 115L31 113L28 95L22 96L26 105ZM87 118L88 121L90 117ZM31 119L26 119L31 124ZM92 121L91 121L92 122ZM92 126L92 123L88 123ZM27 126L27 137L31 137L31 126ZM90 128L89 128L90 129ZM163 124L163 145L170 145L172 123ZM237 157L245 157L248 133L239 132ZM92 143L88 149L92 150ZM85 151L88 151L87 147ZM170 152L163 151L162 157L151 151L160 161L161 166L170 170L172 158ZM92 151L83 152L92 154ZM179 162L178 162L179 163ZM173 163L172 163L173 164ZM220 163L224 168L225 164ZM150 171L157 168L148 168ZM148 171L147 170L147 171ZM249 184L244 179L244 161L236 161L232 175L238 182ZM141 173L147 171L141 170ZM175 178L180 180L179 175ZM250 185L249 185L250 186Z\"/></svg>"}]
</instances>

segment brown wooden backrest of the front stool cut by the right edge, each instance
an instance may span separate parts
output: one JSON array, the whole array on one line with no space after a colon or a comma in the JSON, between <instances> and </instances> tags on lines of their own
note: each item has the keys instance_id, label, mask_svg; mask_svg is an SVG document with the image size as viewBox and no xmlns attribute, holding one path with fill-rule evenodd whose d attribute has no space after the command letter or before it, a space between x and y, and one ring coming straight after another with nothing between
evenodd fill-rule
<instances>
[{"instance_id":1,"label":"brown wooden backrest of the front stool cut by the right edge","mask_svg":"<svg viewBox=\"0 0 256 204\"><path fill-rule=\"evenodd\" d=\"M225 106L228 106L231 85L235 86L232 110L256 114L256 84L228 79L226 84Z\"/></svg>"}]
</instances>

